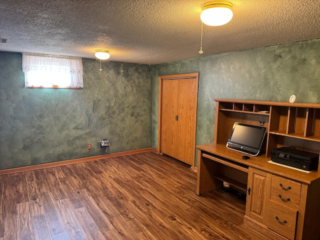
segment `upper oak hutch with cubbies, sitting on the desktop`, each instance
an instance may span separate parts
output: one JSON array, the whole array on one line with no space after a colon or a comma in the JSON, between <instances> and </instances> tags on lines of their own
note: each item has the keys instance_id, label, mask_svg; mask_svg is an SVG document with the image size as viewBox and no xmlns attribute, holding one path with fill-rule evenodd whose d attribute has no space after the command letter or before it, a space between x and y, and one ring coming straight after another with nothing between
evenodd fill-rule
<instances>
[{"instance_id":1,"label":"upper oak hutch with cubbies, sitting on the desktop","mask_svg":"<svg viewBox=\"0 0 320 240\"><path fill-rule=\"evenodd\" d=\"M214 143L224 144L235 121L268 128L265 156L273 148L290 146L319 153L320 104L214 99L218 107L215 116Z\"/></svg>"}]
</instances>

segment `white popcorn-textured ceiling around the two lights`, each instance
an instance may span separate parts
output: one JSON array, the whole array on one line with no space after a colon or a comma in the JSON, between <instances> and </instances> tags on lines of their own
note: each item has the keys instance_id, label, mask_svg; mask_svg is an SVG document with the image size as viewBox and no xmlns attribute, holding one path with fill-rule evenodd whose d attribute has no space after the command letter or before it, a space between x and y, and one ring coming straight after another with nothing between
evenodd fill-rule
<instances>
[{"instance_id":1,"label":"white popcorn-textured ceiling around the two lights","mask_svg":"<svg viewBox=\"0 0 320 240\"><path fill-rule=\"evenodd\" d=\"M158 64L199 57L208 0L1 0L0 51ZM203 25L202 55L320 37L319 0L229 0L233 18Z\"/></svg>"}]
</instances>

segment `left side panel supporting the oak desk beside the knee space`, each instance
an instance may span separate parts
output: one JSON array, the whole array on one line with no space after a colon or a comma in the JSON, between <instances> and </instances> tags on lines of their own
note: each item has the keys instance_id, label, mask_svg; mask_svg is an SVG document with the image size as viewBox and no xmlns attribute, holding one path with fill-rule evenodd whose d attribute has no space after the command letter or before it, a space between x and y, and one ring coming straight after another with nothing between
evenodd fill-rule
<instances>
[{"instance_id":1,"label":"left side panel supporting the oak desk beside the knee space","mask_svg":"<svg viewBox=\"0 0 320 240\"><path fill-rule=\"evenodd\" d=\"M223 182L214 177L216 173L216 162L202 157L202 151L198 149L198 170L196 177L196 195L213 190L223 184Z\"/></svg>"}]
</instances>

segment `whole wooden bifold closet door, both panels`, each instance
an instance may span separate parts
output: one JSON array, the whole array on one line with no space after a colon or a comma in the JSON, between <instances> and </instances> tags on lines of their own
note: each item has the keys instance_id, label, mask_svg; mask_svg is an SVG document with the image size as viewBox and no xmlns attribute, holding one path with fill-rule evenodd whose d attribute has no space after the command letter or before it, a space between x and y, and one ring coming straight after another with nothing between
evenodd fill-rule
<instances>
[{"instance_id":1,"label":"whole wooden bifold closet door, both panels","mask_svg":"<svg viewBox=\"0 0 320 240\"><path fill-rule=\"evenodd\" d=\"M189 165L194 162L197 78L162 82L161 152Z\"/></svg>"}]
</instances>

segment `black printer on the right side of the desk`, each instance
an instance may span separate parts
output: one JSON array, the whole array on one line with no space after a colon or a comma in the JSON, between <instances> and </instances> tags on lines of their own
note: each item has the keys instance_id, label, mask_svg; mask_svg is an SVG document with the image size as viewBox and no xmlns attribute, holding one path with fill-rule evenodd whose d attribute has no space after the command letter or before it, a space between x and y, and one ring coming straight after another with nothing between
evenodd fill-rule
<instances>
[{"instance_id":1,"label":"black printer on the right side of the desk","mask_svg":"<svg viewBox=\"0 0 320 240\"><path fill-rule=\"evenodd\" d=\"M282 146L272 149L271 160L306 171L317 169L319 154Z\"/></svg>"}]
</instances>

